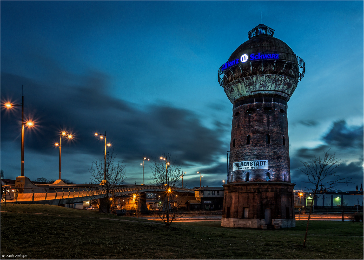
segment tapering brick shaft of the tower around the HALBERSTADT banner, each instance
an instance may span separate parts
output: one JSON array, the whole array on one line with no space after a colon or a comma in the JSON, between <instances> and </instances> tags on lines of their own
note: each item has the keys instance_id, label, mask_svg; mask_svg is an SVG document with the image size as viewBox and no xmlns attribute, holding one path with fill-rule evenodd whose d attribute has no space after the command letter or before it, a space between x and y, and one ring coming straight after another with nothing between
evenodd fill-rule
<instances>
[{"instance_id":1,"label":"tapering brick shaft of the tower around the HALBERSTADT banner","mask_svg":"<svg viewBox=\"0 0 364 260\"><path fill-rule=\"evenodd\" d=\"M265 111L265 107L272 108L272 111ZM253 109L253 112L246 112L248 109ZM267 134L270 136L270 144L266 143ZM248 135L250 144L246 144ZM251 160L268 160L268 170L233 171L233 163ZM265 181L267 171L271 181L290 182L287 107L267 102L241 105L233 110L227 183L246 181L247 172L250 175L249 181Z\"/></svg>"}]
</instances>

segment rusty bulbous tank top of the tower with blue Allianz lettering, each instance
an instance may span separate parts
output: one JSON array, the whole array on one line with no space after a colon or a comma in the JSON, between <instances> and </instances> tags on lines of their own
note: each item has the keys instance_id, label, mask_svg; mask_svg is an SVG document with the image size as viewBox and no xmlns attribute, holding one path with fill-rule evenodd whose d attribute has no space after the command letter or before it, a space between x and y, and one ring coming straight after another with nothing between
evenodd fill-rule
<instances>
[{"instance_id":1,"label":"rusty bulbous tank top of the tower with blue Allianz lettering","mask_svg":"<svg viewBox=\"0 0 364 260\"><path fill-rule=\"evenodd\" d=\"M253 96L288 101L304 76L304 61L273 34L274 30L264 24L253 28L249 40L219 69L218 81L233 104Z\"/></svg>"}]
</instances>

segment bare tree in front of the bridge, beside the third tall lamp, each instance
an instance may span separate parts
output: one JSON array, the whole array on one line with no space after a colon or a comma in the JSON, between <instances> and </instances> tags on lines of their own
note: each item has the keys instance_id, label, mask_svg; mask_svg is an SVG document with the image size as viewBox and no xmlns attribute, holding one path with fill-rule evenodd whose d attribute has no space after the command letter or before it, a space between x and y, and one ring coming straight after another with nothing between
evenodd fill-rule
<instances>
[{"instance_id":1,"label":"bare tree in front of the bridge, beside the third tall lamp","mask_svg":"<svg viewBox=\"0 0 364 260\"><path fill-rule=\"evenodd\" d=\"M117 185L121 185L126 180L125 176L125 164L122 161L118 163L115 162L116 155L114 156L114 151L106 153L106 172L104 172L103 160L95 160L91 163L91 168L89 169L91 173L91 180L93 183L99 184L99 190L95 195L100 195L99 206L101 206L101 200L104 200L106 206L106 212L110 213L110 207L112 201L115 200L115 192ZM99 207L102 211L101 207Z\"/></svg>"}]
</instances>

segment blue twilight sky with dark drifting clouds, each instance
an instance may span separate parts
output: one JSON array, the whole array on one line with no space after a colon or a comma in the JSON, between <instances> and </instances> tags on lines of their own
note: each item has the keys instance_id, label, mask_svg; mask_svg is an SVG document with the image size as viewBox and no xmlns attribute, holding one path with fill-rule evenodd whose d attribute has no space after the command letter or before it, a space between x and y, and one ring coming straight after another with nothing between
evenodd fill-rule
<instances>
[{"instance_id":1,"label":"blue twilight sky with dark drifting clouds","mask_svg":"<svg viewBox=\"0 0 364 260\"><path fill-rule=\"evenodd\" d=\"M171 152L189 186L226 179L232 104L217 71L262 23L306 64L288 102L291 179L300 161L331 148L340 174L363 182L363 1L1 1L1 101L21 102L25 176L90 181L107 125L127 183L141 158ZM20 111L1 111L1 169L20 173ZM146 163L145 183L151 171Z\"/></svg>"}]
</instances>

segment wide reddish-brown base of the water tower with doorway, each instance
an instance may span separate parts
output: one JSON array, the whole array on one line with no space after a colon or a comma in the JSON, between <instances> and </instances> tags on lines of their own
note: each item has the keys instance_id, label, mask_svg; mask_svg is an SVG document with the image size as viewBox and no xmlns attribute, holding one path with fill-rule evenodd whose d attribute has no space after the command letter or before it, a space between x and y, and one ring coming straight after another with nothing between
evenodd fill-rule
<instances>
[{"instance_id":1,"label":"wide reddish-brown base of the water tower with doorway","mask_svg":"<svg viewBox=\"0 0 364 260\"><path fill-rule=\"evenodd\" d=\"M255 181L224 186L223 227L291 228L294 217L293 183Z\"/></svg>"}]
</instances>

